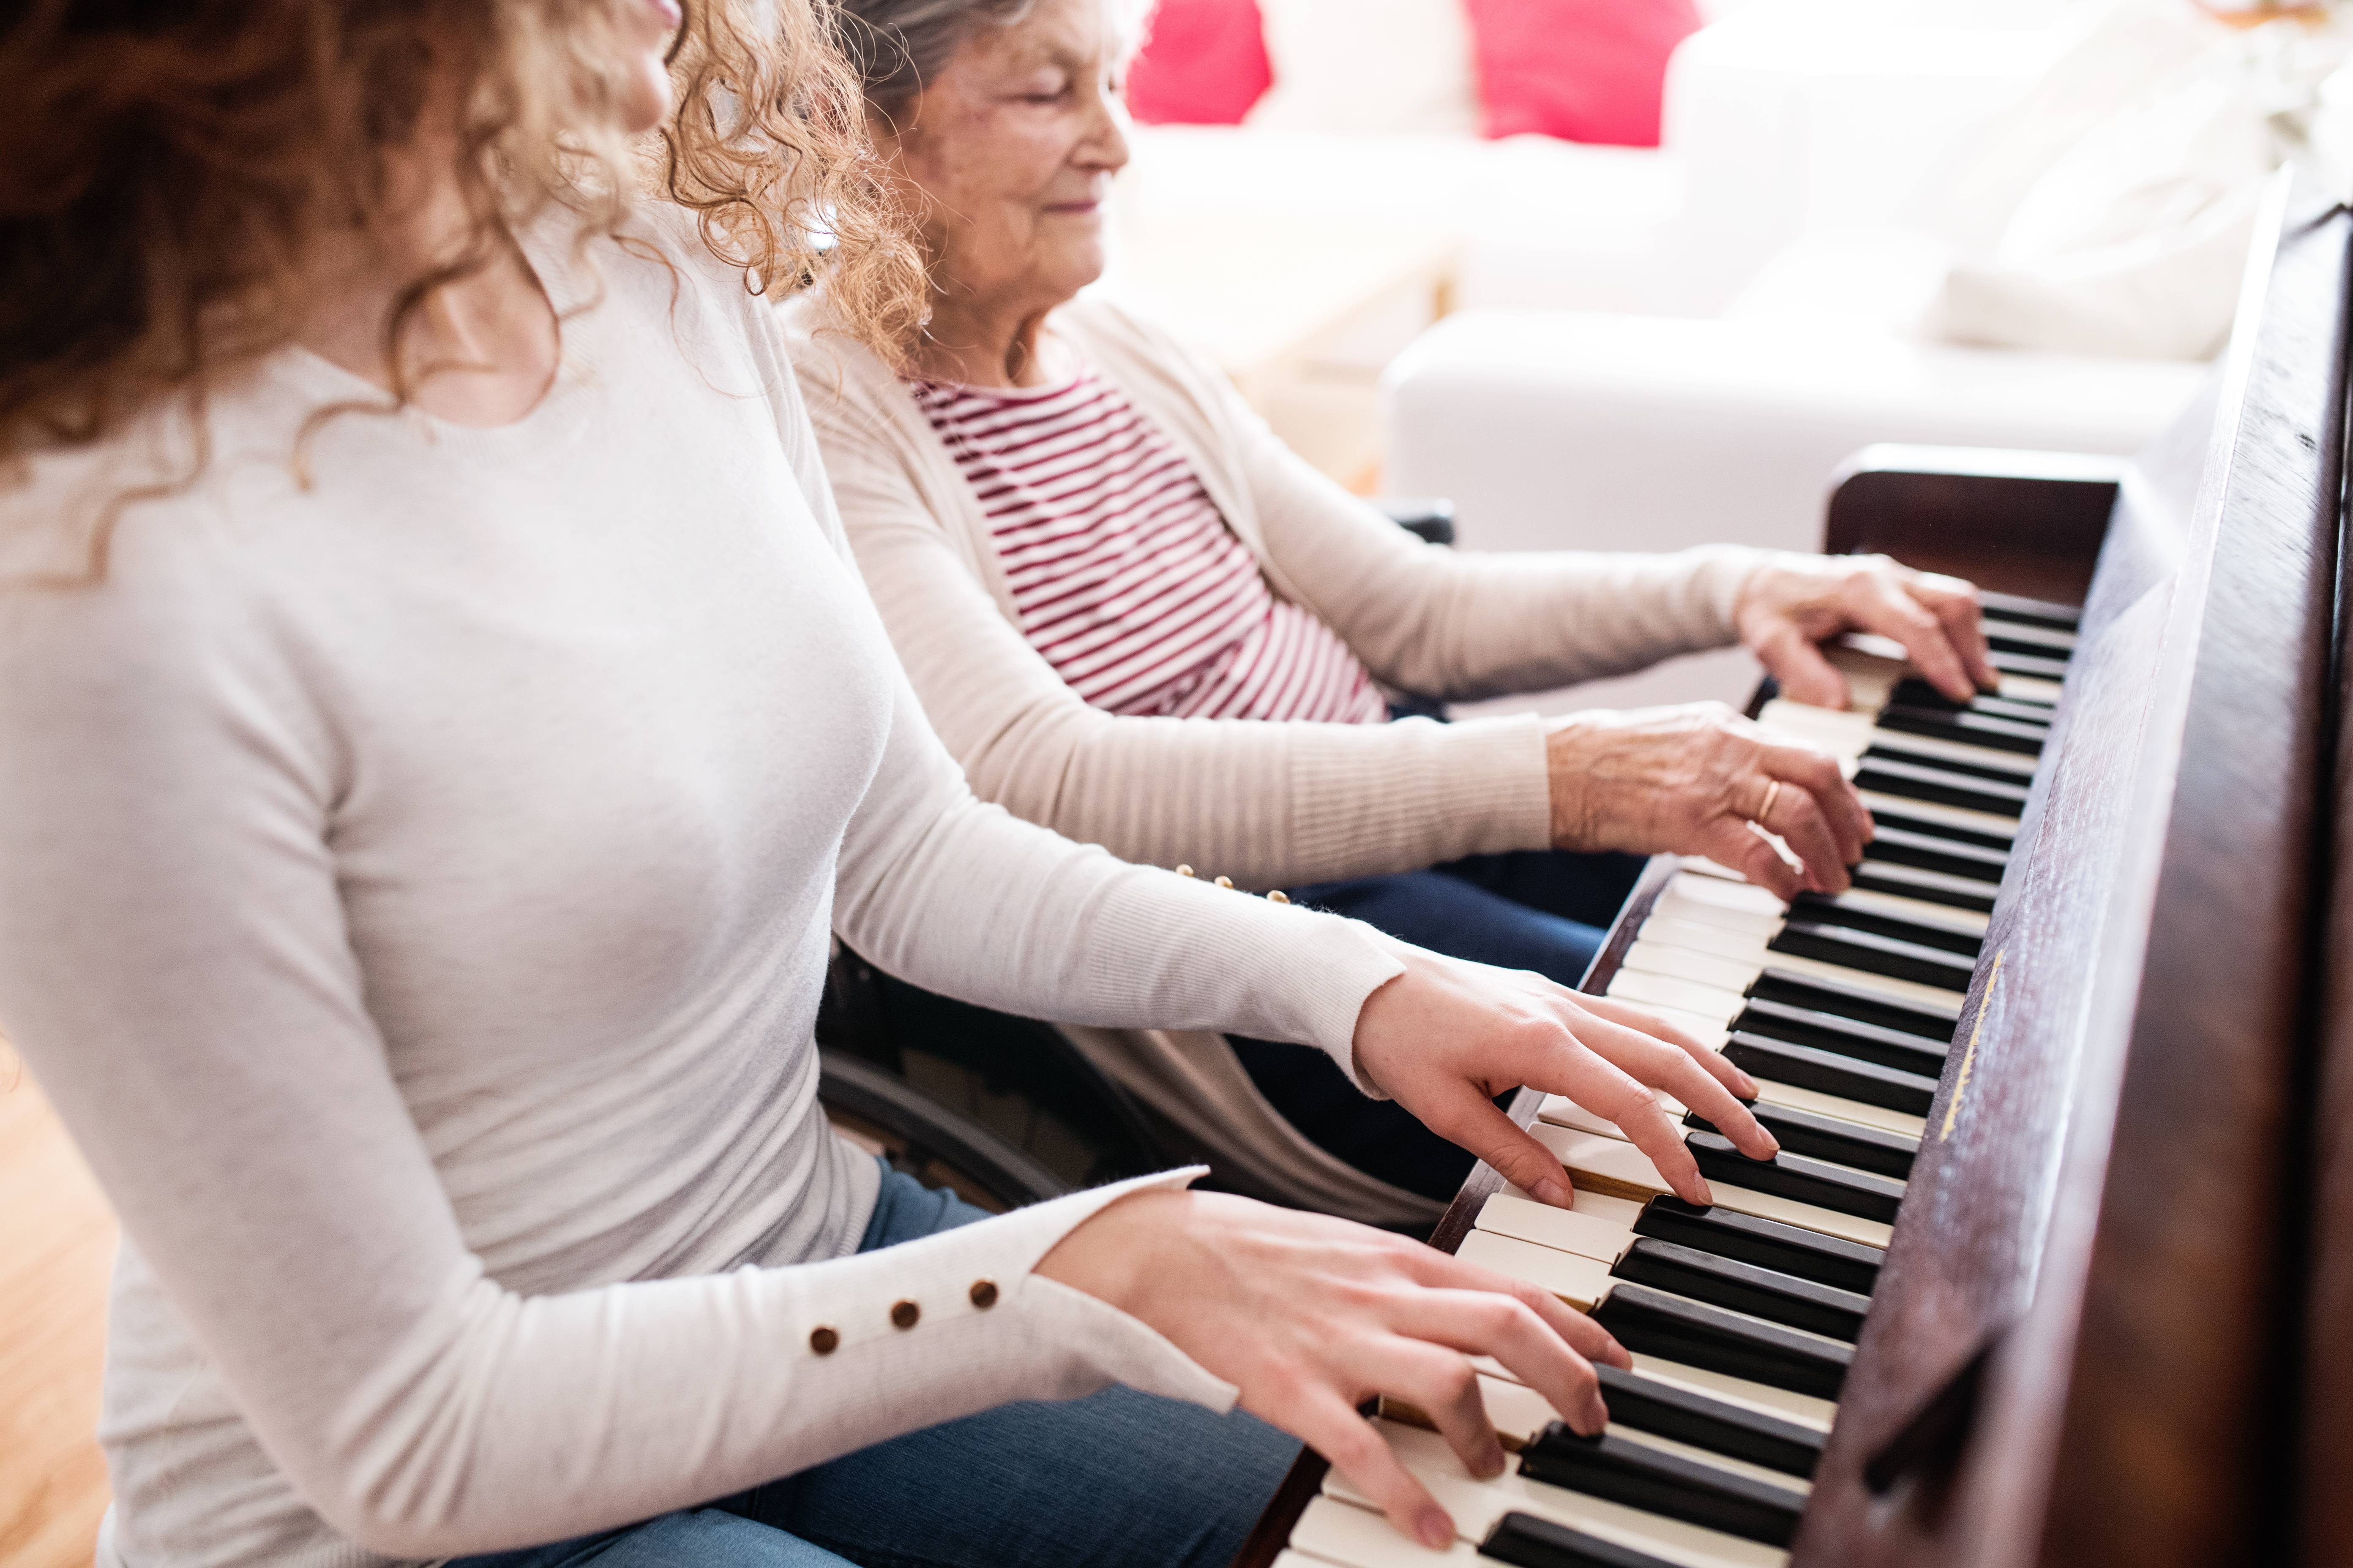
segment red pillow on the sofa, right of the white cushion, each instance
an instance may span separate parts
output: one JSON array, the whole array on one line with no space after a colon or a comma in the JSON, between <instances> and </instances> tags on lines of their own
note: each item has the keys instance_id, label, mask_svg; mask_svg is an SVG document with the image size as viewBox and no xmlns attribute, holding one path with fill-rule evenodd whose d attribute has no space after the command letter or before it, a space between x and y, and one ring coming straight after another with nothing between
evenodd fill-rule
<instances>
[{"instance_id":1,"label":"red pillow on the sofa, right of the white cushion","mask_svg":"<svg viewBox=\"0 0 2353 1568\"><path fill-rule=\"evenodd\" d=\"M1694 0L1466 0L1489 136L1659 146L1666 56Z\"/></svg>"}]
</instances>

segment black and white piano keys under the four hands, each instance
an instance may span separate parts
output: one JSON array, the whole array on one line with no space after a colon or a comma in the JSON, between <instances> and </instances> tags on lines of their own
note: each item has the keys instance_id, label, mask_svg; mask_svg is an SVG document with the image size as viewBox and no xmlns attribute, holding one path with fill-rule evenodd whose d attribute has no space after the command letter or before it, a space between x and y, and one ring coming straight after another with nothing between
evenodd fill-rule
<instances>
[{"instance_id":1,"label":"black and white piano keys under the four hands","mask_svg":"<svg viewBox=\"0 0 2353 1568\"><path fill-rule=\"evenodd\" d=\"M1840 757L1878 837L1847 893L1784 903L1685 860L1607 994L1755 1079L1781 1154L1753 1161L1668 1103L1715 1204L1673 1197L1617 1126L1548 1095L1534 1124L1577 1182L1567 1211L1499 1192L1459 1258L1591 1312L1633 1354L1600 1368L1609 1427L1581 1439L1494 1361L1487 1413L1518 1460L1473 1479L1426 1418L1379 1425L1454 1516L1412 1542L1346 1476L1292 1528L1282 1568L1779 1568L1901 1215L1929 1100L2073 651L2073 611L1986 595L2002 689L1955 705L1854 637L1845 712L1772 701L1760 722Z\"/></svg>"}]
</instances>

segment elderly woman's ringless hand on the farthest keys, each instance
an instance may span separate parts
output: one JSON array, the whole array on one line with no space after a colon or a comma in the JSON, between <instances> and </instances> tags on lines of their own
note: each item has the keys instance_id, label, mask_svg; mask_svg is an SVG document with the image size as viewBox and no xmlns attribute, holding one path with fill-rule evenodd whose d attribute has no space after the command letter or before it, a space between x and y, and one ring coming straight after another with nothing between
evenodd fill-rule
<instances>
[{"instance_id":1,"label":"elderly woman's ringless hand on the farthest keys","mask_svg":"<svg viewBox=\"0 0 2353 1568\"><path fill-rule=\"evenodd\" d=\"M1977 588L1885 555L1784 555L1741 585L1732 623L1781 693L1814 708L1847 705L1847 677L1819 646L1840 632L1901 642L1913 668L1955 703L1998 684Z\"/></svg>"}]
</instances>

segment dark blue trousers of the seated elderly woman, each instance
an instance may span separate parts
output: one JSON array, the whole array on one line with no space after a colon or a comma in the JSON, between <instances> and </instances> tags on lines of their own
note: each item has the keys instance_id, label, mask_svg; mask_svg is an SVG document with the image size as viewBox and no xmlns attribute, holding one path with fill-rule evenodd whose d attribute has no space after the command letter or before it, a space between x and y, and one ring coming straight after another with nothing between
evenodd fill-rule
<instances>
[{"instance_id":1,"label":"dark blue trousers of the seated elderly woman","mask_svg":"<svg viewBox=\"0 0 2353 1568\"><path fill-rule=\"evenodd\" d=\"M1640 875L1640 856L1518 851L1289 893L1294 903L1348 914L1431 952L1534 969L1577 985ZM1471 1175L1466 1150L1393 1100L1360 1095L1322 1051L1233 1039L1233 1053L1268 1105L1325 1154L1438 1201L1452 1199Z\"/></svg>"}]
</instances>

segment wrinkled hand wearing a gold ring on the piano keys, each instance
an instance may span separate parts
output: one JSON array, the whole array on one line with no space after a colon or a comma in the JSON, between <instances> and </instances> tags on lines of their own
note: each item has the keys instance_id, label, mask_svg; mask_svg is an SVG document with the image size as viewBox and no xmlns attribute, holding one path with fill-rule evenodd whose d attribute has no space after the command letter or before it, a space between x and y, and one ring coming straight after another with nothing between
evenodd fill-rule
<instances>
[{"instance_id":1,"label":"wrinkled hand wearing a gold ring on the piano keys","mask_svg":"<svg viewBox=\"0 0 2353 1568\"><path fill-rule=\"evenodd\" d=\"M1835 759L1769 741L1722 703L1579 712L1544 748L1558 849L1708 856L1795 898L1842 893L1871 842L1871 811ZM1788 844L1802 870L1751 823Z\"/></svg>"}]
</instances>

